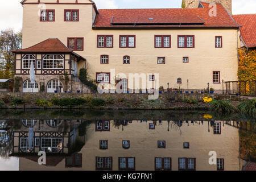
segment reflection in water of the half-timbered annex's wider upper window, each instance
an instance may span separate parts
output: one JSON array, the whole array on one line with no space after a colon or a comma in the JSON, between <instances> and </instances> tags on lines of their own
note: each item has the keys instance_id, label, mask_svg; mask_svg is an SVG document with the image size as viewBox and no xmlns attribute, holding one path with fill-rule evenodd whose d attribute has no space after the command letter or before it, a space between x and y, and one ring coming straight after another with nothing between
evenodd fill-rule
<instances>
[{"instance_id":1,"label":"reflection in water of the half-timbered annex's wider upper window","mask_svg":"<svg viewBox=\"0 0 256 182\"><path fill-rule=\"evenodd\" d=\"M41 150L57 153L63 148L62 138L41 138Z\"/></svg>"}]
</instances>

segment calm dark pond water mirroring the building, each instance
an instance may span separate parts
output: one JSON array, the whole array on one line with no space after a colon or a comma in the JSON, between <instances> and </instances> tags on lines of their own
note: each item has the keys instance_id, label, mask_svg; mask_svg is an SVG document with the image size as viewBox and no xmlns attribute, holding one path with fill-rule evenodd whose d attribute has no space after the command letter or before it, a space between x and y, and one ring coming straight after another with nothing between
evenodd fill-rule
<instances>
[{"instance_id":1,"label":"calm dark pond water mirroring the building","mask_svg":"<svg viewBox=\"0 0 256 182\"><path fill-rule=\"evenodd\" d=\"M255 143L256 131L255 117L242 114L5 110L0 118L0 170L228 171L255 154L240 146ZM39 151L46 165L38 164ZM217 164L209 163L214 154Z\"/></svg>"}]
</instances>

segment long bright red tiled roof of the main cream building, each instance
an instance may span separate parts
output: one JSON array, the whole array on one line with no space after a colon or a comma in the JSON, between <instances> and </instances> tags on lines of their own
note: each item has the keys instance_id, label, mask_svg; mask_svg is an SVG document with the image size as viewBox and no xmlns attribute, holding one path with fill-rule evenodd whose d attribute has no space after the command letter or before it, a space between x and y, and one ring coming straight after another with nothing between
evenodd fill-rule
<instances>
[{"instance_id":1,"label":"long bright red tiled roof of the main cream building","mask_svg":"<svg viewBox=\"0 0 256 182\"><path fill-rule=\"evenodd\" d=\"M109 9L99 10L94 23L97 28L237 28L228 11L216 3L217 16L209 16L209 3L200 2L202 8L196 9ZM152 19L150 19L152 18ZM181 23L181 25L179 24ZM183 23L183 24L182 24ZM189 25L190 24L190 25ZM191 25L193 24L193 25Z\"/></svg>"}]
</instances>

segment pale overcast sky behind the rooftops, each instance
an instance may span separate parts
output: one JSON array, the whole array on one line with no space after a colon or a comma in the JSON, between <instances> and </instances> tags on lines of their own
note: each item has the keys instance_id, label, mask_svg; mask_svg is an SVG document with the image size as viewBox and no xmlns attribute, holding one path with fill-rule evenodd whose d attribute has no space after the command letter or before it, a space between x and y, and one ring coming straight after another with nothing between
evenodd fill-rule
<instances>
[{"instance_id":1,"label":"pale overcast sky behind the rooftops","mask_svg":"<svg viewBox=\"0 0 256 182\"><path fill-rule=\"evenodd\" d=\"M0 0L0 30L22 28L21 0ZM73 1L73 0L72 0ZM181 0L93 0L98 9L177 8ZM256 13L256 0L233 0L233 14Z\"/></svg>"}]
</instances>

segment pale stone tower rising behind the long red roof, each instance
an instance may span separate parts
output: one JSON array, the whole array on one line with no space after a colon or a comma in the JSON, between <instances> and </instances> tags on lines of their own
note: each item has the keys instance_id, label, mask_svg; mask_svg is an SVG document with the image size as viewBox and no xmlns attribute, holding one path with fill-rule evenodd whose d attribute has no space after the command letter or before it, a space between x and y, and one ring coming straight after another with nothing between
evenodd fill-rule
<instances>
[{"instance_id":1,"label":"pale stone tower rising behind the long red roof","mask_svg":"<svg viewBox=\"0 0 256 182\"><path fill-rule=\"evenodd\" d=\"M184 0L186 8L197 8L199 0ZM220 2L230 15L232 15L232 0L203 0L204 2Z\"/></svg>"}]
</instances>

